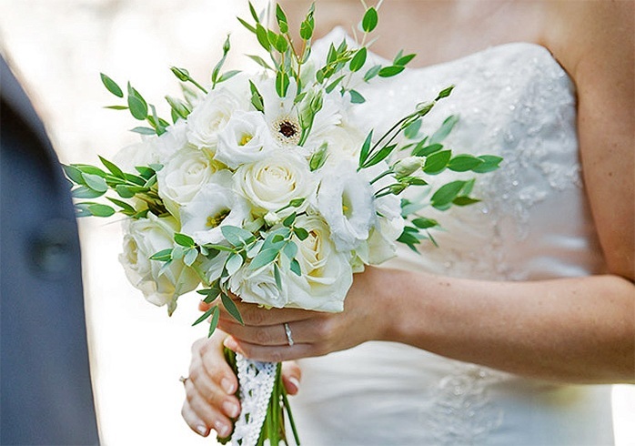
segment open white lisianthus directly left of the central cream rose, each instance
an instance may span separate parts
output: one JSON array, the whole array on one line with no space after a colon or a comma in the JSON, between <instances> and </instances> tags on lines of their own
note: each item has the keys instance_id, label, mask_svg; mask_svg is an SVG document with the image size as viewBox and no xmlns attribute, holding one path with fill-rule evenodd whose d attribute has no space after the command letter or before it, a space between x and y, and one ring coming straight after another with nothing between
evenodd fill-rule
<instances>
[{"instance_id":1,"label":"open white lisianthus directly left of the central cream rose","mask_svg":"<svg viewBox=\"0 0 635 446\"><path fill-rule=\"evenodd\" d=\"M220 243L221 227L242 228L250 218L249 205L231 188L215 183L204 185L191 201L180 208L181 231L199 245Z\"/></svg>"}]
</instances>

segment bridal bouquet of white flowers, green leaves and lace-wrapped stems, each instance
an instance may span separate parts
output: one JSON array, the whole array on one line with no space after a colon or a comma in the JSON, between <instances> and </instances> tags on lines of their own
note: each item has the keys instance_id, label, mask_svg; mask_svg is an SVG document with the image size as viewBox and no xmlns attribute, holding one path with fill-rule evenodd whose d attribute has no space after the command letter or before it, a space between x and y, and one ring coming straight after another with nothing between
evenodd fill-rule
<instances>
[{"instance_id":1,"label":"bridal bouquet of white flowers, green leaves and lace-wrapped stems","mask_svg":"<svg viewBox=\"0 0 635 446\"><path fill-rule=\"evenodd\" d=\"M241 321L236 297L268 308L341 311L355 272L393 257L398 242L416 249L431 238L437 222L422 214L426 207L477 201L469 197L473 179L445 184L421 202L399 198L405 189L426 187L426 176L446 168L484 173L500 162L443 146L456 117L421 134L422 117L451 86L383 135L358 123L351 112L365 99L356 86L397 76L414 57L369 62L364 42L378 23L376 8L363 15L361 42L331 44L317 58L313 7L300 24L300 51L279 6L275 29L249 7L249 22L239 20L268 55L249 56L259 71L223 71L228 38L206 86L173 67L184 96L166 96L171 122L136 88L124 91L102 75L125 101L111 108L145 123L133 129L142 141L114 161L101 157L103 167L65 167L80 217L126 216L120 259L131 283L169 314L179 296L197 289L210 307L195 324L210 319L210 334L221 306ZM106 193L107 202L93 201ZM279 365L228 359L243 402L233 443L287 443Z\"/></svg>"}]
</instances>

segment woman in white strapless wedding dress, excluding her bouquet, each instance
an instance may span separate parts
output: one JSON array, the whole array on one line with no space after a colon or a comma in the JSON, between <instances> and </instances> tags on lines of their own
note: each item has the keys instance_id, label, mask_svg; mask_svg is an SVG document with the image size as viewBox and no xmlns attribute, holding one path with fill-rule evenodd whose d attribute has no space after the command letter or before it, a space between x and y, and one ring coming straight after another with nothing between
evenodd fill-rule
<instances>
[{"instance_id":1,"label":"woman in white strapless wedding dress, excluding her bouquet","mask_svg":"<svg viewBox=\"0 0 635 446\"><path fill-rule=\"evenodd\" d=\"M307 5L283 3L290 17ZM316 53L363 14L358 0L316 9ZM223 318L193 347L189 426L232 429L225 344L288 361L308 446L612 444L607 384L635 381L634 14L628 1L385 2L373 51L416 52L419 67L367 86L361 116L385 127L456 84L426 125L459 114L448 144L504 163L479 177L479 205L438 216L439 248L356 275L342 313L239 303L245 326Z\"/></svg>"}]
</instances>

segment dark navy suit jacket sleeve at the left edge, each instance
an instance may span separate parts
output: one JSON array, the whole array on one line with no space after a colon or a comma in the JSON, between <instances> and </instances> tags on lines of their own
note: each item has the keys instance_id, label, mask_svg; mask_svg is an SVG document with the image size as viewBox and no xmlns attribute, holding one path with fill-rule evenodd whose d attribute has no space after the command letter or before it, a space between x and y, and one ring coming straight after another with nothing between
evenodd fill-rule
<instances>
[{"instance_id":1,"label":"dark navy suit jacket sleeve at the left edge","mask_svg":"<svg viewBox=\"0 0 635 446\"><path fill-rule=\"evenodd\" d=\"M97 444L69 187L0 58L0 444Z\"/></svg>"}]
</instances>

